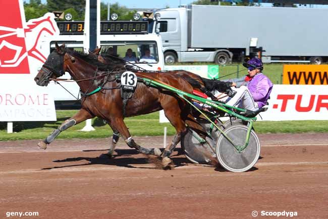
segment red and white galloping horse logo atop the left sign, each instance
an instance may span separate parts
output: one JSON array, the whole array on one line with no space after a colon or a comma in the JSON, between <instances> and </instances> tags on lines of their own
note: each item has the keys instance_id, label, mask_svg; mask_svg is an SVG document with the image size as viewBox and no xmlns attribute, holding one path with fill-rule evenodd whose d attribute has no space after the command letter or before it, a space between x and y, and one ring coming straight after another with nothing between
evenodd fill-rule
<instances>
[{"instance_id":1,"label":"red and white galloping horse logo atop the left sign","mask_svg":"<svg viewBox=\"0 0 328 219\"><path fill-rule=\"evenodd\" d=\"M0 0L6 14L0 13L0 73L29 73L27 57L45 62L46 57L38 49L38 42L47 35L59 34L59 29L52 13L31 19L25 23L21 1ZM13 19L12 19L13 18ZM12 20L10 20L12 19Z\"/></svg>"}]
</instances>

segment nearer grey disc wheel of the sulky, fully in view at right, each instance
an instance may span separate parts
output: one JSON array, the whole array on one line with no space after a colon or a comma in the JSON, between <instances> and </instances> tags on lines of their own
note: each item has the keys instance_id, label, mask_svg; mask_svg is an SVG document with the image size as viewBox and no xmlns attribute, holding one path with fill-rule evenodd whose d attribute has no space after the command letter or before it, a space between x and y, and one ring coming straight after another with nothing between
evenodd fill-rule
<instances>
[{"instance_id":1,"label":"nearer grey disc wheel of the sulky, fully in view at right","mask_svg":"<svg viewBox=\"0 0 328 219\"><path fill-rule=\"evenodd\" d=\"M224 133L232 140L236 146L245 144L248 127L246 125L233 125L225 129ZM232 172L244 172L252 168L260 155L260 142L251 130L247 147L238 150L221 135L216 145L216 157L218 162L227 170Z\"/></svg>"}]
</instances>

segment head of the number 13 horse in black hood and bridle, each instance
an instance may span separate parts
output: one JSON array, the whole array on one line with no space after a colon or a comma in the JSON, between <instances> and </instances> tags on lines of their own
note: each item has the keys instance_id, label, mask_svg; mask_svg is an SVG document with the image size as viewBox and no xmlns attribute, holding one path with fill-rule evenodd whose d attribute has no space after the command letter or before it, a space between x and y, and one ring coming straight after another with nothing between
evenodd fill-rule
<instances>
[{"instance_id":1,"label":"head of the number 13 horse in black hood and bridle","mask_svg":"<svg viewBox=\"0 0 328 219\"><path fill-rule=\"evenodd\" d=\"M65 43L58 46L56 42L56 50L52 51L42 68L35 76L34 80L39 86L47 86L50 78L57 78L63 76L66 71L65 61L66 56Z\"/></svg>"}]
</instances>

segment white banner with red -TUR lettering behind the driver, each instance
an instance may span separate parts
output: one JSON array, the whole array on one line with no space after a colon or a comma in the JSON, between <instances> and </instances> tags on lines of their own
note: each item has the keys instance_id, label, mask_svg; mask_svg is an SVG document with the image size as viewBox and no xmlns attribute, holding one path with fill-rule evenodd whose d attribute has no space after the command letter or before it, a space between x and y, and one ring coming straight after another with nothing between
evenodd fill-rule
<instances>
[{"instance_id":1,"label":"white banner with red -TUR lettering behind the driver","mask_svg":"<svg viewBox=\"0 0 328 219\"><path fill-rule=\"evenodd\" d=\"M258 121L328 120L327 85L275 84L268 103ZM164 113L160 112L159 122L169 122Z\"/></svg>"}]
</instances>

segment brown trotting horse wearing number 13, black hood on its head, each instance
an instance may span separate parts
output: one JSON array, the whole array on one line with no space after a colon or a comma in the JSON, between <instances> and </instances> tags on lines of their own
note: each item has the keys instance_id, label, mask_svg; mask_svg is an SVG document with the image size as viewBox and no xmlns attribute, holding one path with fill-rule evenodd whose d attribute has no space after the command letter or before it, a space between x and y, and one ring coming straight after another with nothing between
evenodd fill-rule
<instances>
[{"instance_id":1,"label":"brown trotting horse wearing number 13, black hood on its head","mask_svg":"<svg viewBox=\"0 0 328 219\"><path fill-rule=\"evenodd\" d=\"M108 70L100 71L100 69ZM124 116L130 117L147 114L163 109L166 117L170 120L177 132L171 145L161 154L163 157L162 165L166 167L171 163L169 156L172 150L179 143L181 136L186 133L186 123L188 126L204 132L201 125L190 114L190 106L178 95L163 89L148 87L140 82L137 85L133 97L126 105L124 115L121 91L119 89L121 83L117 81L117 73L119 71L114 69L113 66L111 68L108 65L103 65L93 60L86 54L69 51L64 45L59 47L56 43L56 50L49 55L34 80L38 85L46 86L51 78L60 77L66 71L77 81L81 89L81 94L95 91L100 84L101 90L98 93L83 96L81 100L82 109L38 144L43 149L63 130L97 116L108 121L112 129L123 136L129 147L135 148L144 154L155 154L154 149L143 148L134 142L123 119ZM112 73L108 73L108 71L112 71ZM182 77L172 76L171 74L137 72L137 76L162 81L174 87L179 87L184 92L192 93L193 91L193 86L189 82Z\"/></svg>"}]
</instances>

